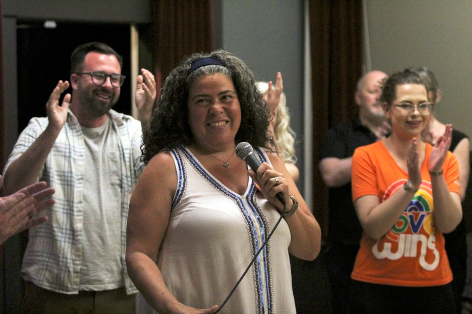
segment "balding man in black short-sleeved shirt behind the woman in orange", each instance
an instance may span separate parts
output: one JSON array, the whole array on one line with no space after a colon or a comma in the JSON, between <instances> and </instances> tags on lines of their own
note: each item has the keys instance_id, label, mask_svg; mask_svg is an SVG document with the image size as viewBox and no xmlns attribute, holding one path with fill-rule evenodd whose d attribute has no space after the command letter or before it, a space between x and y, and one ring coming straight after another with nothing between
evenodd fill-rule
<instances>
[{"instance_id":1,"label":"balding man in black short-sleeved shirt behind the woman in orange","mask_svg":"<svg viewBox=\"0 0 472 314\"><path fill-rule=\"evenodd\" d=\"M359 79L354 97L359 115L328 130L321 145L319 167L329 187L326 266L333 313L348 313L351 272L362 233L352 201L352 156L357 147L374 143L390 131L379 102L386 77L372 71Z\"/></svg>"}]
</instances>

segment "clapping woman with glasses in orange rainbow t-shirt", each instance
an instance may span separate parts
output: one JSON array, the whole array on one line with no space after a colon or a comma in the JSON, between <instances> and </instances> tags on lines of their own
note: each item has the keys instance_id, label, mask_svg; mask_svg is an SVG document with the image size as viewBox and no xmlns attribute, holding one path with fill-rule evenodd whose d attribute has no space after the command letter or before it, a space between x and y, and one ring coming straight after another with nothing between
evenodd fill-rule
<instances>
[{"instance_id":1,"label":"clapping woman with glasses in orange rainbow t-shirt","mask_svg":"<svg viewBox=\"0 0 472 314\"><path fill-rule=\"evenodd\" d=\"M381 102L390 136L353 156L354 207L364 232L350 311L454 313L442 235L462 219L458 163L448 152L452 126L434 147L421 141L431 103L410 70L386 79Z\"/></svg>"}]
</instances>

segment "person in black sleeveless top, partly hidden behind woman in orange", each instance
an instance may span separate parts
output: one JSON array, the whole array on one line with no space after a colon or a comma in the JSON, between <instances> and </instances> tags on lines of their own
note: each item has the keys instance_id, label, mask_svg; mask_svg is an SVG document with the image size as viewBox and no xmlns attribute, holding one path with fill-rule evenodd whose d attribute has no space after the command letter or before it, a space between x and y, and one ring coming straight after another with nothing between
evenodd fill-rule
<instances>
[{"instance_id":1,"label":"person in black sleeveless top, partly hidden behind woman in orange","mask_svg":"<svg viewBox=\"0 0 472 314\"><path fill-rule=\"evenodd\" d=\"M429 101L433 104L429 118L429 123L424 129L423 141L435 145L438 138L442 136L446 125L440 122L436 115L435 109L441 101L441 90L439 89L438 80L431 70L426 67L410 68L416 72L425 82L428 91ZM465 223L465 212L470 210L470 202L464 202L466 198L467 185L469 183L470 173L470 140L469 136L461 131L452 130L452 140L449 151L454 153L459 163L459 182L461 187L461 201L464 215L457 228L448 234L444 234L446 240L445 248L447 258L451 266L453 279L452 288L454 290L454 298L456 300L456 311L458 314L462 312L462 293L466 285L467 278L467 228Z\"/></svg>"}]
</instances>

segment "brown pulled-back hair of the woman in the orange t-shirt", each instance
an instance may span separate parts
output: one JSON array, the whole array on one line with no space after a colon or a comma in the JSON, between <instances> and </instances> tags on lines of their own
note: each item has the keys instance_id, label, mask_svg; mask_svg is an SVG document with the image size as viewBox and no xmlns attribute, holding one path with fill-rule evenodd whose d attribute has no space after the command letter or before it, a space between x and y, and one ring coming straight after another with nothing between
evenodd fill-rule
<instances>
[{"instance_id":1,"label":"brown pulled-back hair of the woman in the orange t-shirt","mask_svg":"<svg viewBox=\"0 0 472 314\"><path fill-rule=\"evenodd\" d=\"M382 96L380 97L380 101L382 103L387 103L387 106L390 107L393 100L397 97L397 86L404 84L420 84L428 90L424 80L418 75L418 73L406 69L402 72L392 74L388 78L384 78L382 82Z\"/></svg>"}]
</instances>

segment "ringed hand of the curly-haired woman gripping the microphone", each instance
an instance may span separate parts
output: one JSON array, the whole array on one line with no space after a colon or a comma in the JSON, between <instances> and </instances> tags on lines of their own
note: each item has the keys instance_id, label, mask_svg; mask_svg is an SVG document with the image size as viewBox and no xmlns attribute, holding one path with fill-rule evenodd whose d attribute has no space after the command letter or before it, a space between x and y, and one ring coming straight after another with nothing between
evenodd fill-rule
<instances>
[{"instance_id":1,"label":"ringed hand of the curly-haired woman gripping the microphone","mask_svg":"<svg viewBox=\"0 0 472 314\"><path fill-rule=\"evenodd\" d=\"M249 176L254 180L260 187L264 197L274 205L277 210L284 210L284 205L275 196L278 192L281 192L284 196L285 202L288 202L289 198L289 185L284 175L274 170L266 162L262 163L257 169L257 173L254 170L248 170Z\"/></svg>"}]
</instances>

